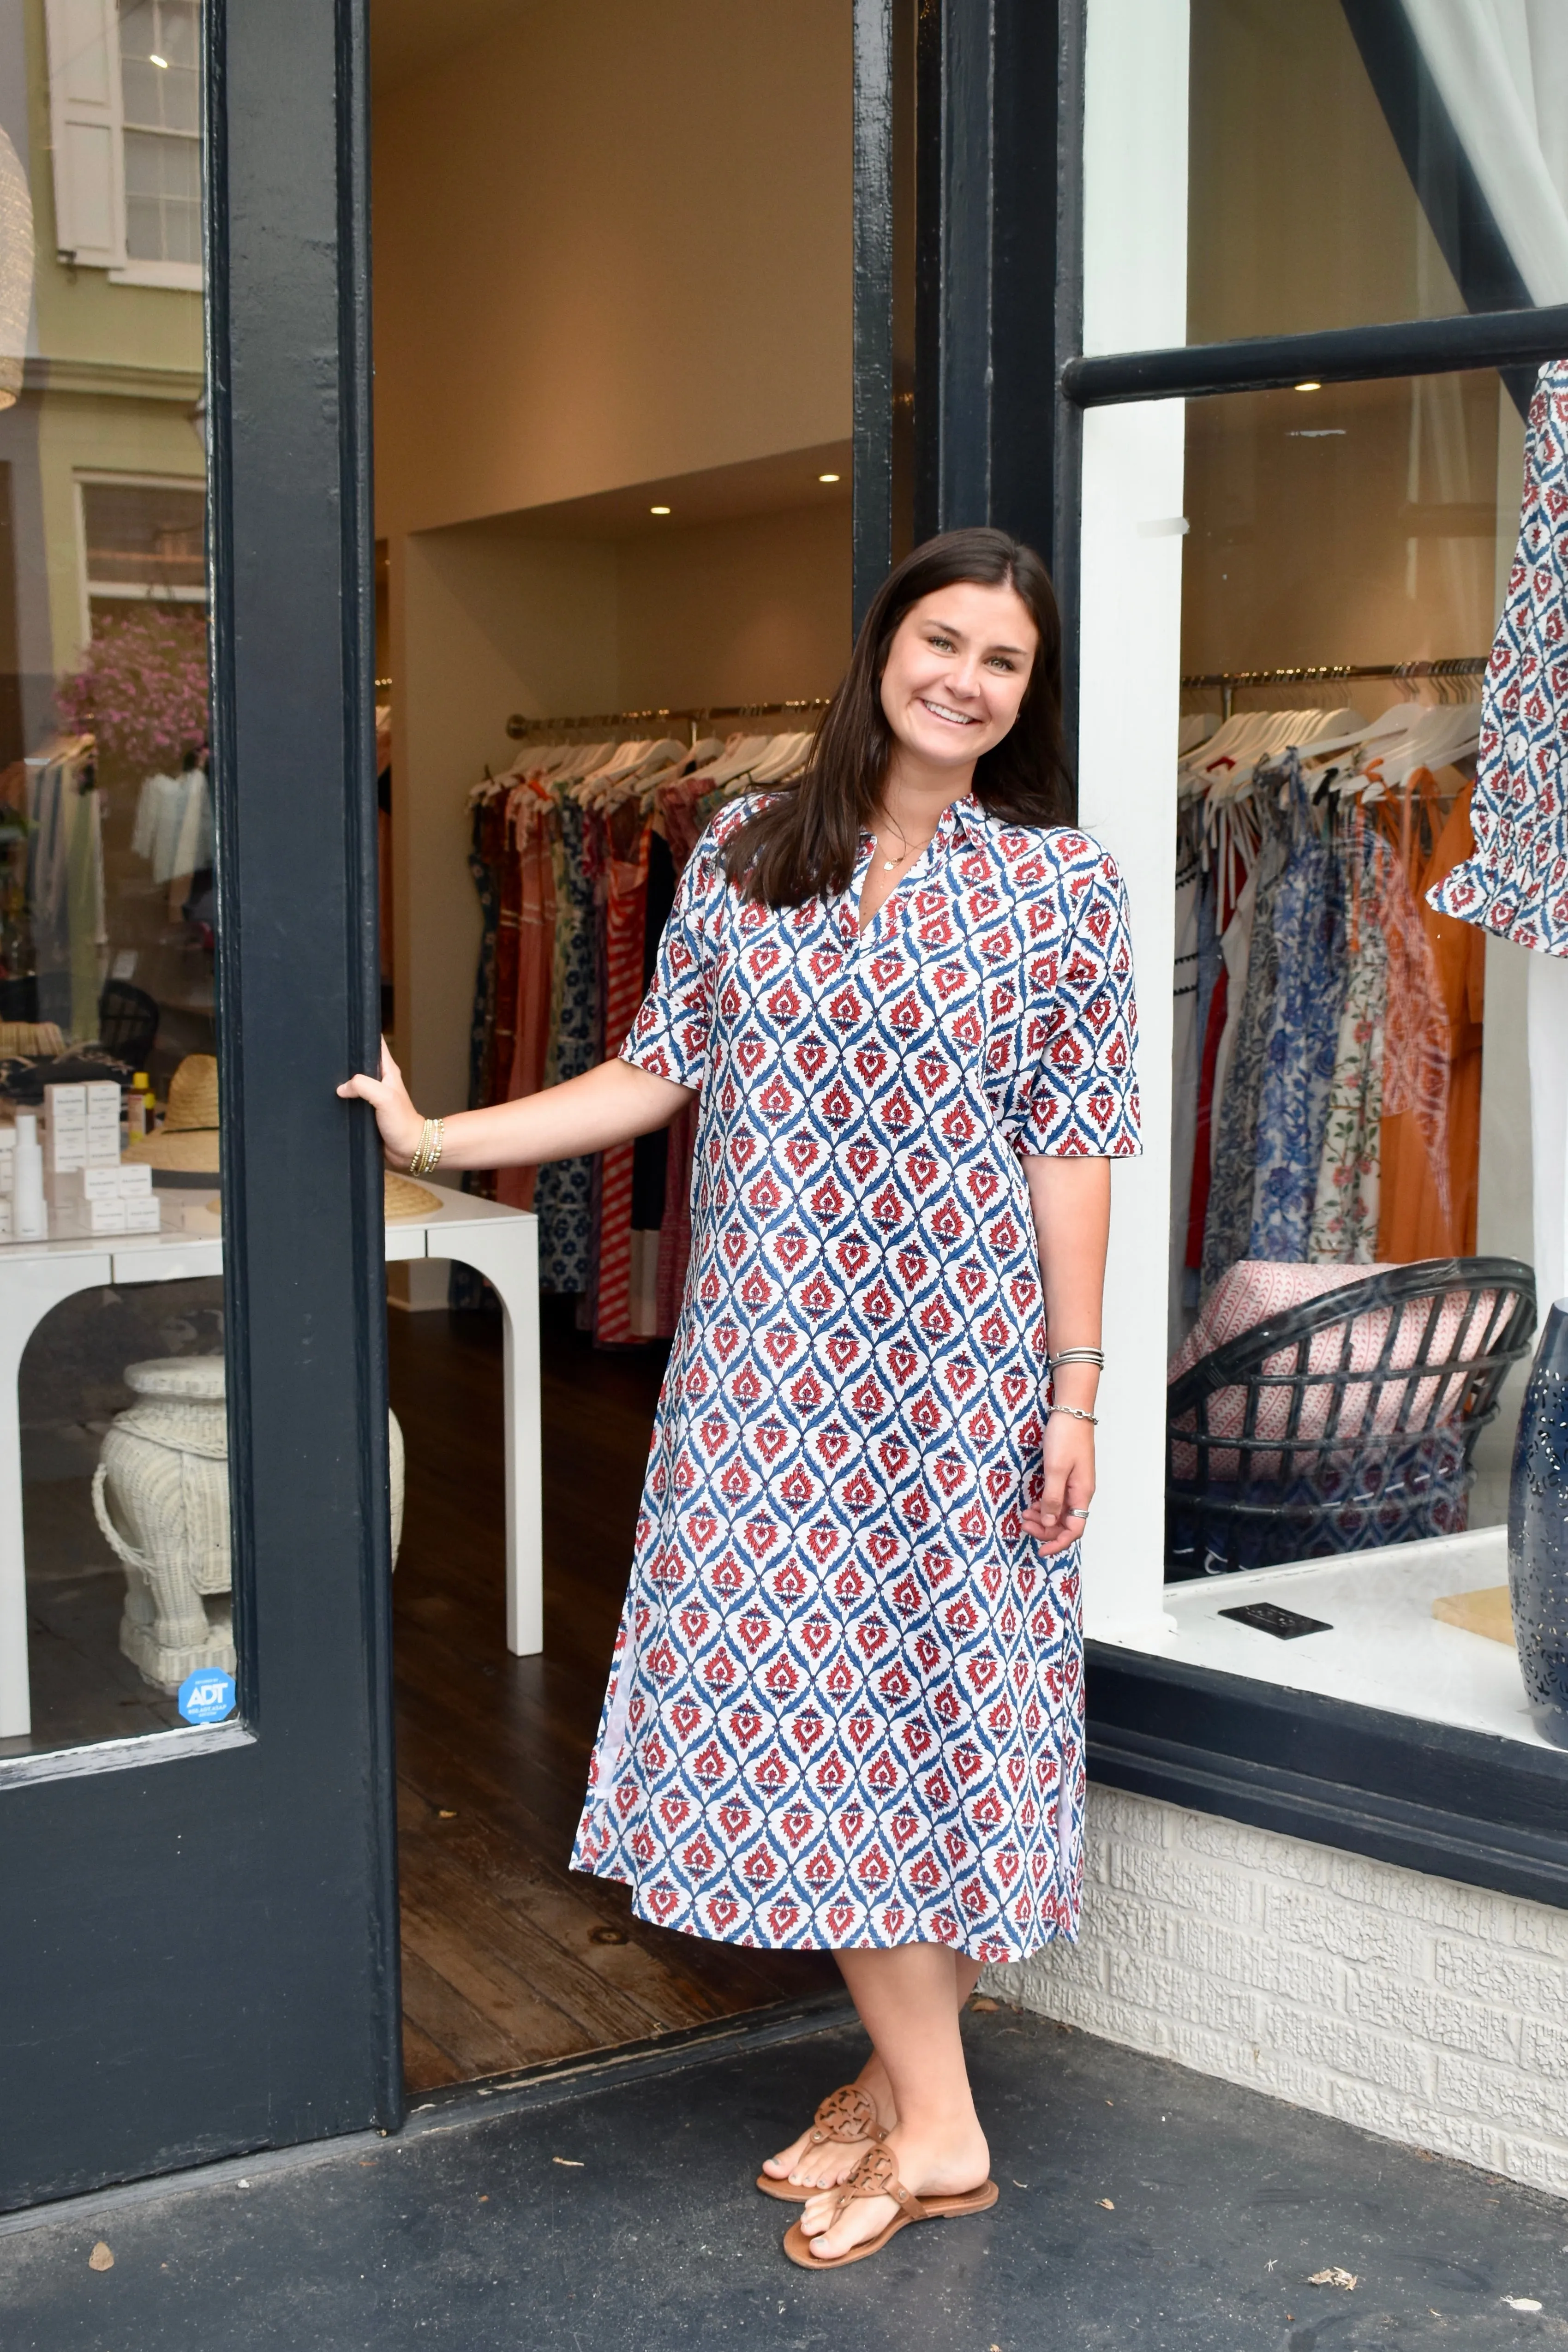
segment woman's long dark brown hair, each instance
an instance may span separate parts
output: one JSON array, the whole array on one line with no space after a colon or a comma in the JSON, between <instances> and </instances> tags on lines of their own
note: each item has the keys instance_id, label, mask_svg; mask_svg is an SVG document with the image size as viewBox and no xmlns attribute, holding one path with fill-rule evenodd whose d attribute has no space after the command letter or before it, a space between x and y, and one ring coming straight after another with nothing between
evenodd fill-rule
<instances>
[{"instance_id":1,"label":"woman's long dark brown hair","mask_svg":"<svg viewBox=\"0 0 1568 2352\"><path fill-rule=\"evenodd\" d=\"M882 710L882 670L893 635L912 604L959 581L1013 588L1039 630L1018 717L976 760L976 800L1020 826L1060 826L1072 818L1072 781L1063 753L1063 621L1051 576L1034 548L1006 532L943 532L905 555L872 597L844 682L816 731L806 771L780 786L724 844L724 870L748 898L804 906L849 889L860 856L860 828L877 807L893 755L893 729Z\"/></svg>"}]
</instances>

